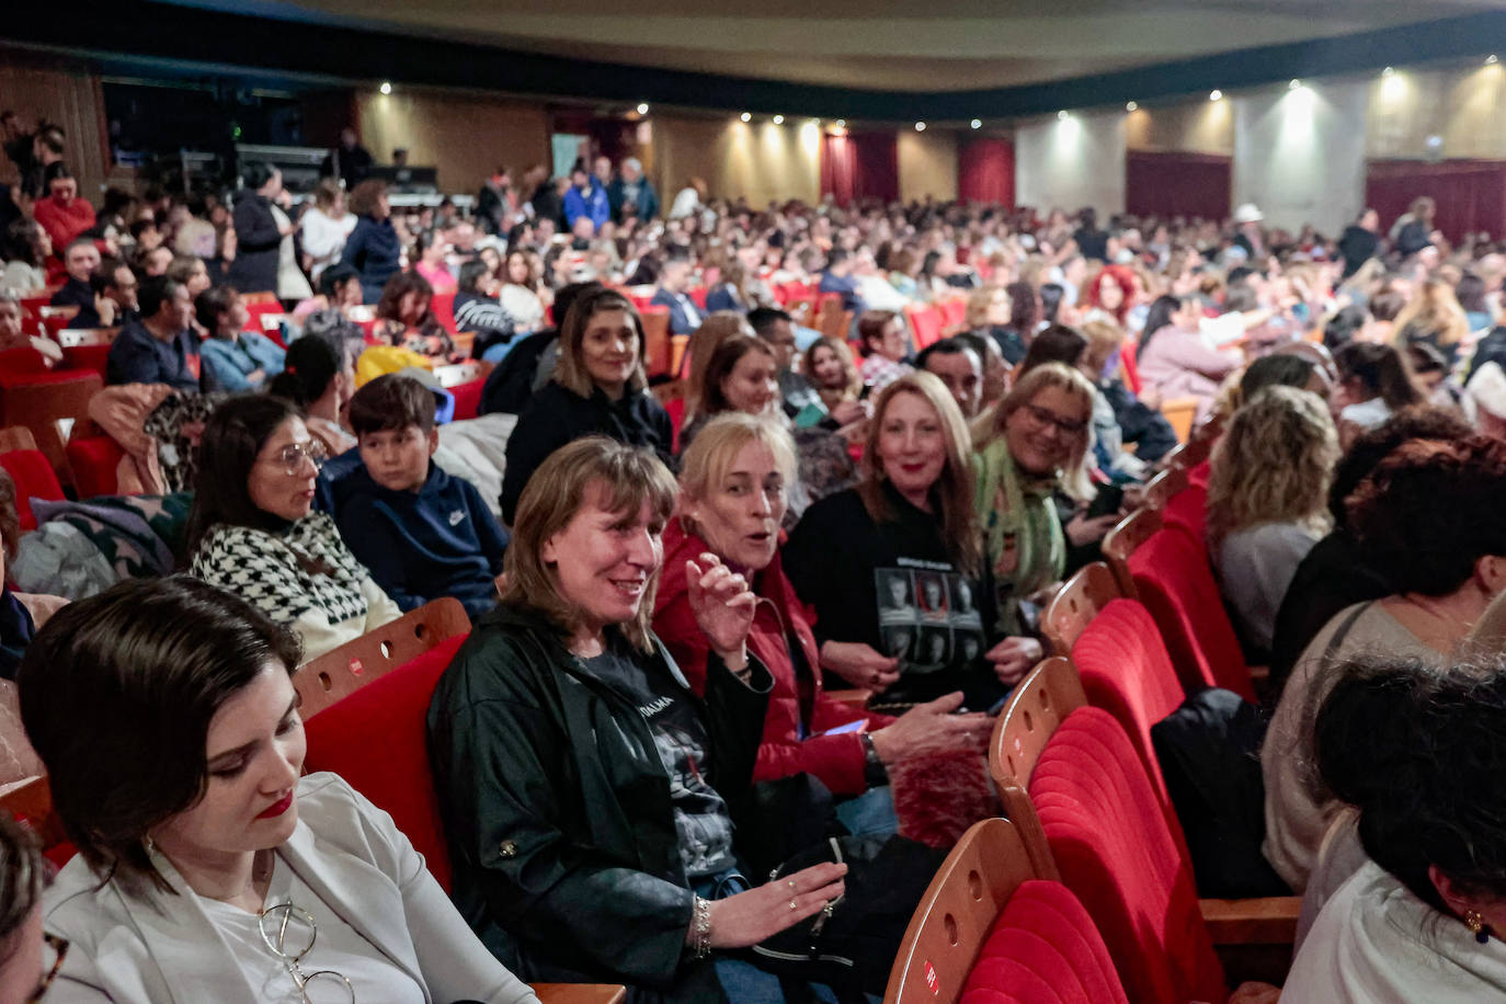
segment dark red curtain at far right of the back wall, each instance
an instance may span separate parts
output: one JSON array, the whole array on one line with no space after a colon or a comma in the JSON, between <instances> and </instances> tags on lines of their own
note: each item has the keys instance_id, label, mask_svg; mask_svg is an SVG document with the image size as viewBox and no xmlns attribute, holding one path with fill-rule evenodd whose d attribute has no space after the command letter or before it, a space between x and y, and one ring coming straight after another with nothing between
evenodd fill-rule
<instances>
[{"instance_id":1,"label":"dark red curtain at far right of the back wall","mask_svg":"<svg viewBox=\"0 0 1506 1004\"><path fill-rule=\"evenodd\" d=\"M1370 161L1364 172L1364 205L1381 215L1383 229L1411 208L1413 199L1432 196L1438 206L1434 224L1450 241L1485 230L1506 235L1506 161Z\"/></svg>"}]
</instances>

